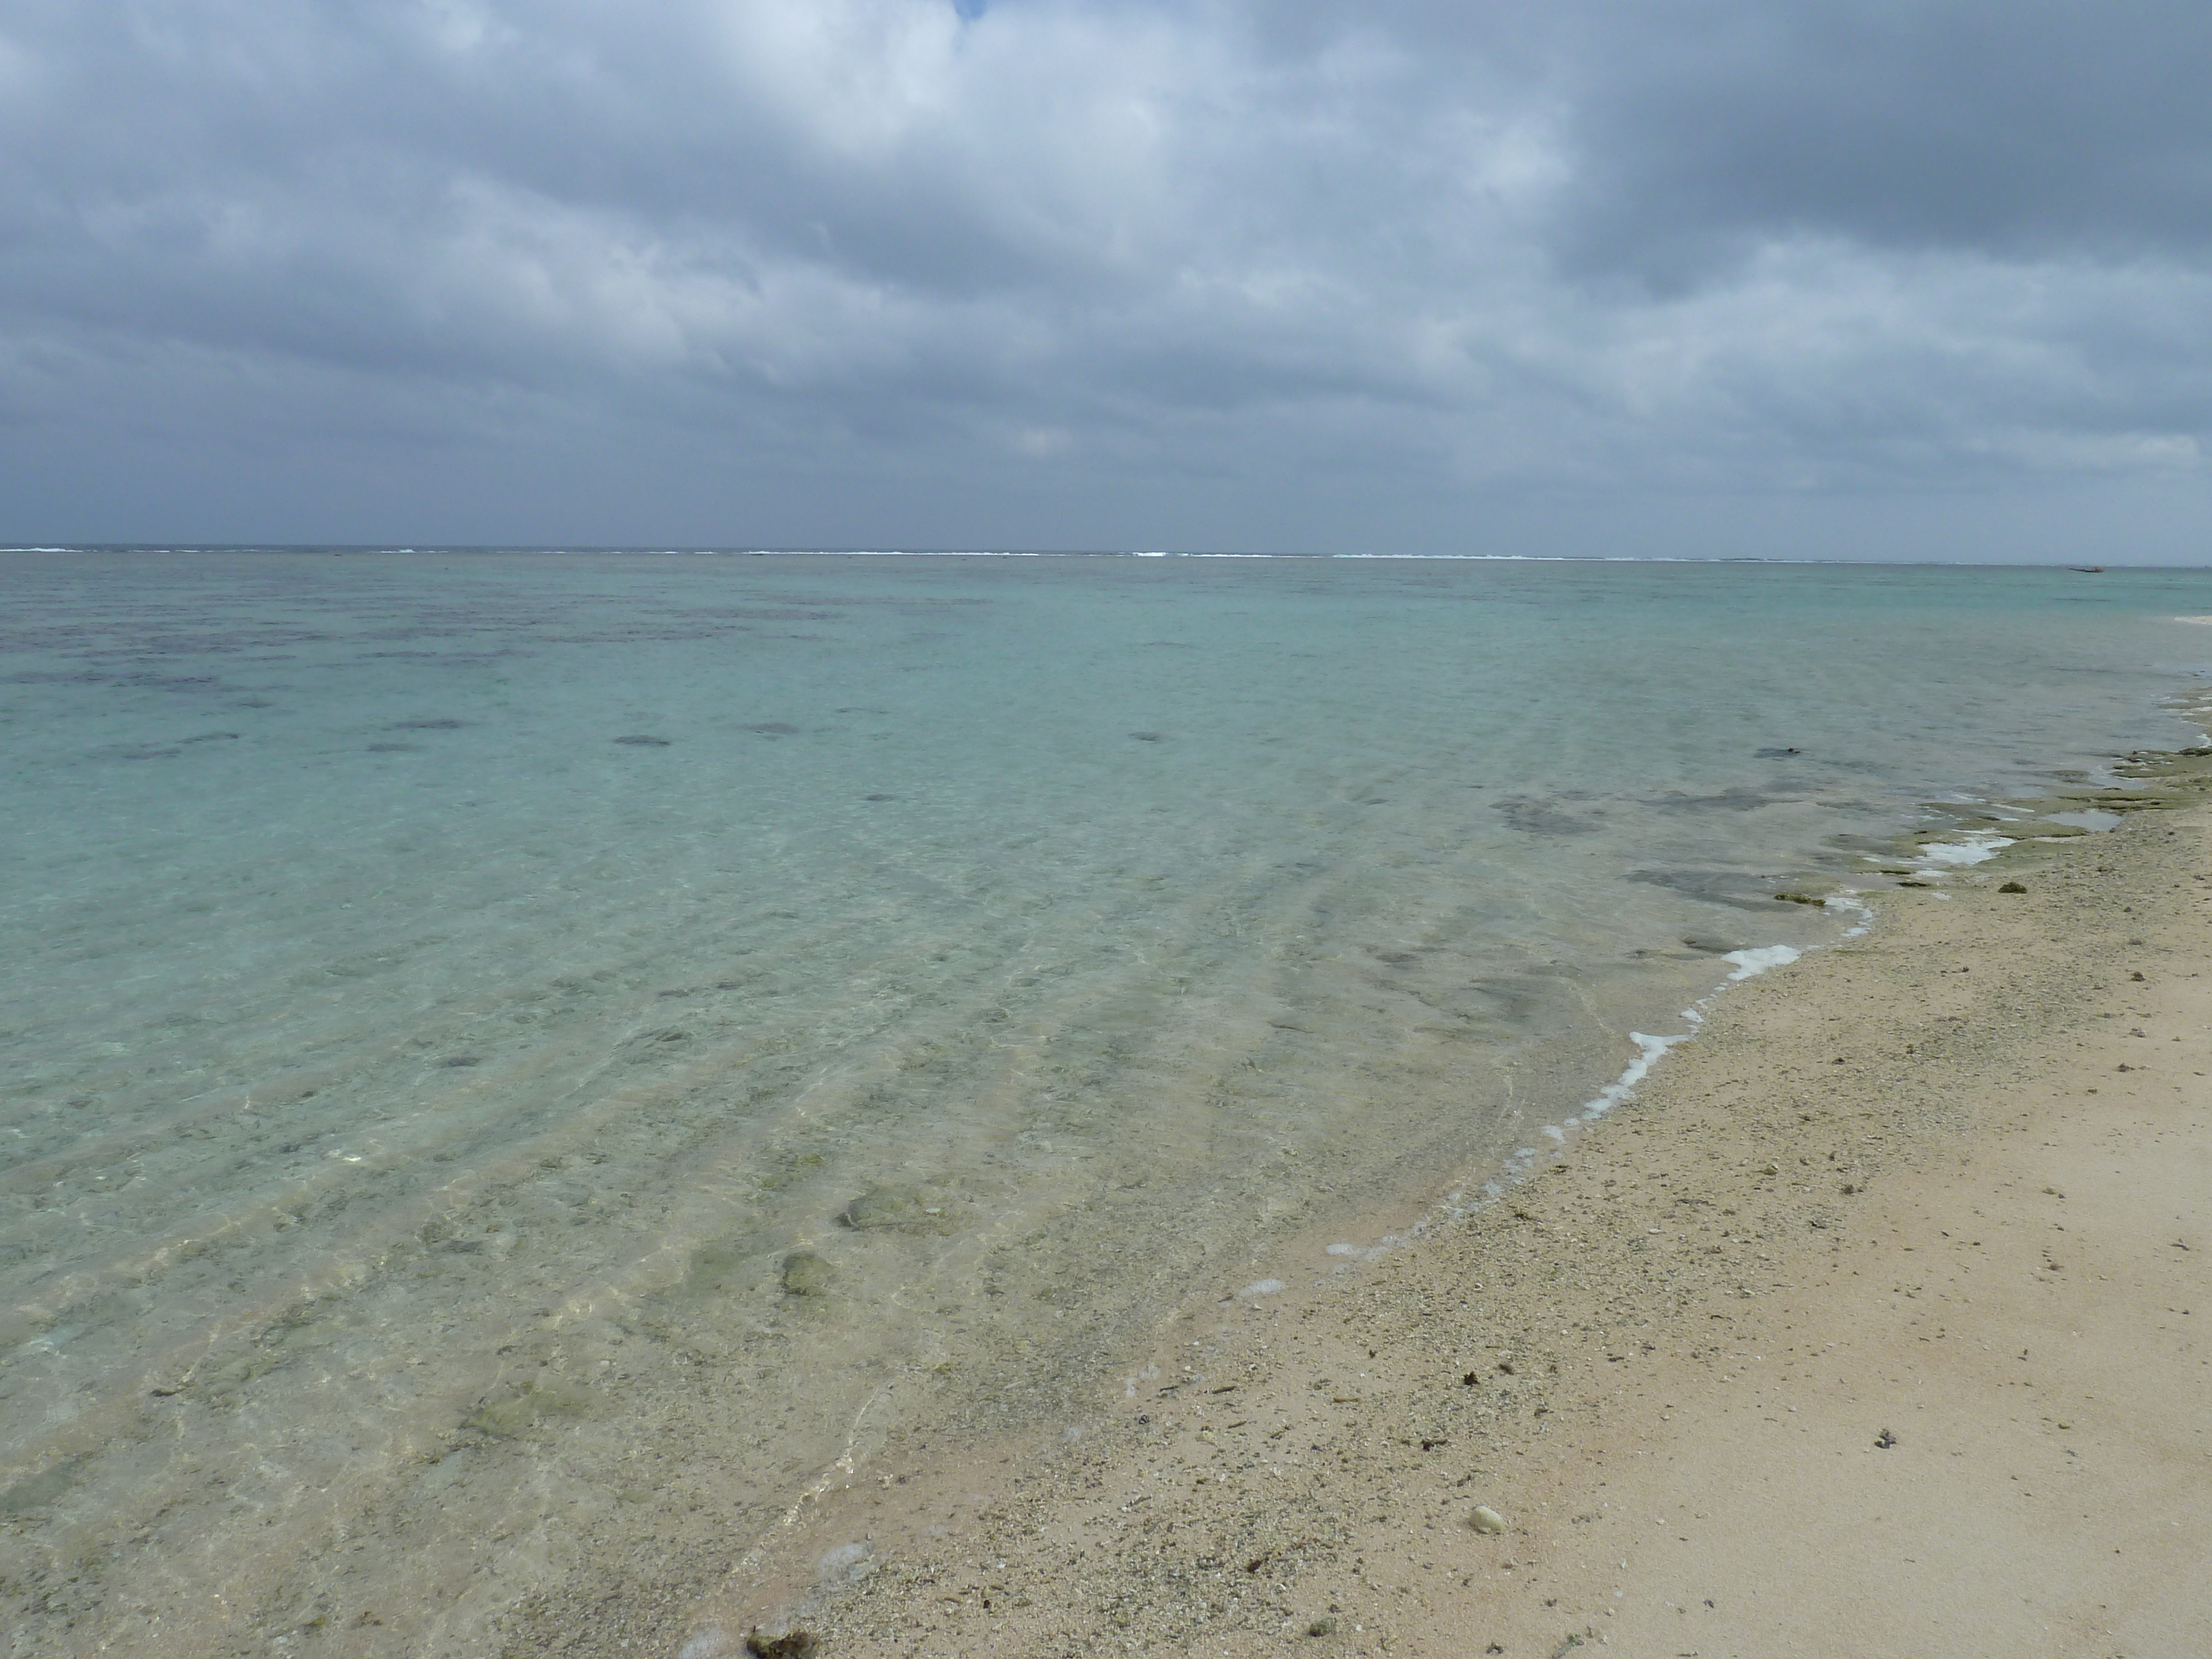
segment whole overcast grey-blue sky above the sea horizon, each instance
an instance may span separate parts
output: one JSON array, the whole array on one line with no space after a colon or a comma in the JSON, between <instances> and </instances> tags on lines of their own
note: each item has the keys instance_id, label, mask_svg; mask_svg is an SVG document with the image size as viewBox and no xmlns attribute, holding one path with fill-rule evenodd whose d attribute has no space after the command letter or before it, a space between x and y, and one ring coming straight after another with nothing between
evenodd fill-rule
<instances>
[{"instance_id":1,"label":"whole overcast grey-blue sky above the sea horizon","mask_svg":"<svg viewBox=\"0 0 2212 1659\"><path fill-rule=\"evenodd\" d=\"M2212 564L2205 0L0 0L0 540Z\"/></svg>"}]
</instances>

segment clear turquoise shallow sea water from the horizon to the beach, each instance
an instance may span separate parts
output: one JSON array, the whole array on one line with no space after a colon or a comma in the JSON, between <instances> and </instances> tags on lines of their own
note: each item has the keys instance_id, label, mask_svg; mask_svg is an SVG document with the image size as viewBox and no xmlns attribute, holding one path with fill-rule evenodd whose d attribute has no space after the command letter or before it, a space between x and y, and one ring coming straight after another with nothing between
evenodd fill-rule
<instances>
[{"instance_id":1,"label":"clear turquoise shallow sea water from the horizon to the beach","mask_svg":"<svg viewBox=\"0 0 2212 1659\"><path fill-rule=\"evenodd\" d=\"M1778 880L2190 741L2212 661L2163 571L0 582L18 1652L471 1652L580 1540L717 1571L1480 1179L1719 949L1834 933Z\"/></svg>"}]
</instances>

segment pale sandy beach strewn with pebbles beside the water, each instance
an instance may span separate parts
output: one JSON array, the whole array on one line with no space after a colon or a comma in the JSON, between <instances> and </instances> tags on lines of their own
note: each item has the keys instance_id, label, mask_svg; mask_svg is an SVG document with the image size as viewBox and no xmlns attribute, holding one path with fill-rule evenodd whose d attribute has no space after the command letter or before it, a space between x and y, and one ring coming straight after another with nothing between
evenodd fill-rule
<instances>
[{"instance_id":1,"label":"pale sandy beach strewn with pebbles beside the water","mask_svg":"<svg viewBox=\"0 0 2212 1659\"><path fill-rule=\"evenodd\" d=\"M2154 770L1473 1219L852 1471L686 1655L2212 1655L2212 810Z\"/></svg>"}]
</instances>

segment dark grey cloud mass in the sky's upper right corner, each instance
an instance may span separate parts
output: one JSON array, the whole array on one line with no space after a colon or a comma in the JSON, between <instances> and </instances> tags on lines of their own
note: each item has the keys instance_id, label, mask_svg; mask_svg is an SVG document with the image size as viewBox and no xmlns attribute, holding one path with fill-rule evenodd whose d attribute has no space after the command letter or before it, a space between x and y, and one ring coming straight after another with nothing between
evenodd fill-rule
<instances>
[{"instance_id":1,"label":"dark grey cloud mass in the sky's upper right corner","mask_svg":"<svg viewBox=\"0 0 2212 1659\"><path fill-rule=\"evenodd\" d=\"M1584 254L1663 268L1776 232L2024 259L2212 239L2201 4L1619 11L1575 73Z\"/></svg>"}]
</instances>

